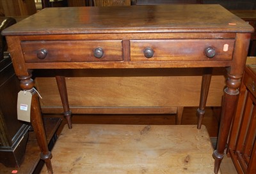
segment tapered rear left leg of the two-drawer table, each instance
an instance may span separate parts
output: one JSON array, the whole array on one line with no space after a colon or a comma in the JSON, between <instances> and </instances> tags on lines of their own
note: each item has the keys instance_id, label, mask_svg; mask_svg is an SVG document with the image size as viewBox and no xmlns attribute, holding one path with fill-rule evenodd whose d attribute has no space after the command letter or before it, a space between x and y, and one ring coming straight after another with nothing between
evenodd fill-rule
<instances>
[{"instance_id":1,"label":"tapered rear left leg of the two-drawer table","mask_svg":"<svg viewBox=\"0 0 256 174\"><path fill-rule=\"evenodd\" d=\"M60 98L61 98L61 102L63 105L64 117L67 119L68 128L72 129L72 122L71 122L72 112L71 112L71 110L69 108L69 104L68 104L68 93L67 93L67 85L66 85L65 76L56 76L56 82L58 85L58 89L60 92Z\"/></svg>"}]
</instances>

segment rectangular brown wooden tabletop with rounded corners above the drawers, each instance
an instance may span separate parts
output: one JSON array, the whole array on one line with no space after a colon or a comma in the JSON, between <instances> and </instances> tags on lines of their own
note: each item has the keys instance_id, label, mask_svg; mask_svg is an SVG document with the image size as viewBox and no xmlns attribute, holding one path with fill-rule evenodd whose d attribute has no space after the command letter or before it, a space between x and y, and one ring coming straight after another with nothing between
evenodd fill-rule
<instances>
[{"instance_id":1,"label":"rectangular brown wooden tabletop with rounded corners above the drawers","mask_svg":"<svg viewBox=\"0 0 256 174\"><path fill-rule=\"evenodd\" d=\"M45 8L4 35L86 33L252 33L253 27L218 4Z\"/></svg>"}]
</instances>

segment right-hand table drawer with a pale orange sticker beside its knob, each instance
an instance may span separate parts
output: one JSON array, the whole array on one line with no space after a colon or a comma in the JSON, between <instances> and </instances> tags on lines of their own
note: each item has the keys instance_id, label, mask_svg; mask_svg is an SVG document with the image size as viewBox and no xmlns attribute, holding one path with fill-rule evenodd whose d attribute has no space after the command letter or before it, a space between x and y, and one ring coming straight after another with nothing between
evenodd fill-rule
<instances>
[{"instance_id":1,"label":"right-hand table drawer with a pale orange sticker beside its knob","mask_svg":"<svg viewBox=\"0 0 256 174\"><path fill-rule=\"evenodd\" d=\"M235 40L131 40L131 61L231 60L234 42ZM207 57L206 50L214 56Z\"/></svg>"}]
</instances>

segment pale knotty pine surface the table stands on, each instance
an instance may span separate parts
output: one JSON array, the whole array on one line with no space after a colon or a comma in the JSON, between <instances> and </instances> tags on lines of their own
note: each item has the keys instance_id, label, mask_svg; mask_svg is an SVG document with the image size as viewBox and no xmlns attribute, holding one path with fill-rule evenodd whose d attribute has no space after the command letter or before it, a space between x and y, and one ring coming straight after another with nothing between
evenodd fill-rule
<instances>
[{"instance_id":1,"label":"pale knotty pine surface the table stands on","mask_svg":"<svg viewBox=\"0 0 256 174\"><path fill-rule=\"evenodd\" d=\"M205 126L74 124L56 142L52 166L72 174L214 174L212 151Z\"/></svg>"}]
</instances>

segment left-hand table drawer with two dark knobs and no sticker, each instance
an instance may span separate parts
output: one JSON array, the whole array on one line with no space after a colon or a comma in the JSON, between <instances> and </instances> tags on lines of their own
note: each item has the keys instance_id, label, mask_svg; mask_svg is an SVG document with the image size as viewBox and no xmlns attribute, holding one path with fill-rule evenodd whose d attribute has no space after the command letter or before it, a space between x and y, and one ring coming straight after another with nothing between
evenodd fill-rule
<instances>
[{"instance_id":1,"label":"left-hand table drawer with two dark knobs and no sticker","mask_svg":"<svg viewBox=\"0 0 256 174\"><path fill-rule=\"evenodd\" d=\"M22 41L25 62L122 61L122 40Z\"/></svg>"}]
</instances>

